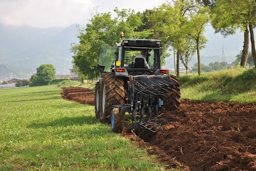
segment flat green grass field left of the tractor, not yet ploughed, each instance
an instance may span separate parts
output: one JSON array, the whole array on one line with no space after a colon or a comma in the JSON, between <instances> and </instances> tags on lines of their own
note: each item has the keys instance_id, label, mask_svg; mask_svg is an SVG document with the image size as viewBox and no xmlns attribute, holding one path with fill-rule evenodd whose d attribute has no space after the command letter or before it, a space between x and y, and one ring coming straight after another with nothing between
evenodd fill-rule
<instances>
[{"instance_id":1,"label":"flat green grass field left of the tractor, not yet ploughed","mask_svg":"<svg viewBox=\"0 0 256 171\"><path fill-rule=\"evenodd\" d=\"M0 170L165 170L61 91L0 89Z\"/></svg>"}]
</instances>

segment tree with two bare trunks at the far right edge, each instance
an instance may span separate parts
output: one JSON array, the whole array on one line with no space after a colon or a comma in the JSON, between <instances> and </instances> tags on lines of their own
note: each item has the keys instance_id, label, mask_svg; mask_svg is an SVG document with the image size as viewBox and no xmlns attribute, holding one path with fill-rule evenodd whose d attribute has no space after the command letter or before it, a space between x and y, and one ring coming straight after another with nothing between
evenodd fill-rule
<instances>
[{"instance_id":1,"label":"tree with two bare trunks at the far right edge","mask_svg":"<svg viewBox=\"0 0 256 171\"><path fill-rule=\"evenodd\" d=\"M252 55L256 67L256 51L253 27L256 19L255 0L218 0L211 11L211 22L216 32L228 30L234 34L235 29L244 31L244 46L241 66L245 68L249 53L249 31L251 35ZM249 29L248 29L249 28Z\"/></svg>"}]
</instances>

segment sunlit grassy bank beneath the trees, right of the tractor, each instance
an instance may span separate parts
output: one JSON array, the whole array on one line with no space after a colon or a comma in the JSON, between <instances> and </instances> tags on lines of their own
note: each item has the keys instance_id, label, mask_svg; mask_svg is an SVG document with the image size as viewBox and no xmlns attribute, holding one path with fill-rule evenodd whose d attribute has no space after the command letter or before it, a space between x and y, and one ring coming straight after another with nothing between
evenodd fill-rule
<instances>
[{"instance_id":1,"label":"sunlit grassy bank beneath the trees, right of the tractor","mask_svg":"<svg viewBox=\"0 0 256 171\"><path fill-rule=\"evenodd\" d=\"M233 68L181 76L182 99L256 103L256 71Z\"/></svg>"}]
</instances>

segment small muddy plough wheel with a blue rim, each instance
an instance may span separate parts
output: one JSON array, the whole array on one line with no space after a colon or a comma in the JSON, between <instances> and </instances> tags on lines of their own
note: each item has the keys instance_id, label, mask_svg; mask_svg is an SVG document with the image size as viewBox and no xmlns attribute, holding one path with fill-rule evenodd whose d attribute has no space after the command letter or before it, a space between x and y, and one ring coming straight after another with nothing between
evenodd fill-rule
<instances>
[{"instance_id":1,"label":"small muddy plough wheel with a blue rim","mask_svg":"<svg viewBox=\"0 0 256 171\"><path fill-rule=\"evenodd\" d=\"M111 112L111 128L114 133L122 133L124 123L124 113L114 108Z\"/></svg>"}]
</instances>

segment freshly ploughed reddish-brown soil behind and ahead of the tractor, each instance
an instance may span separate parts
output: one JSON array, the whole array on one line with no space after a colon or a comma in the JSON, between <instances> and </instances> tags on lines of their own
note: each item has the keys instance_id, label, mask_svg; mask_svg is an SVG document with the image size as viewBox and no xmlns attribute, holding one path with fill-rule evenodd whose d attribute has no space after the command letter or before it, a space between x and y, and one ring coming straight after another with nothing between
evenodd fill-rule
<instances>
[{"instance_id":1,"label":"freshly ploughed reddish-brown soil behind and ahead of the tractor","mask_svg":"<svg viewBox=\"0 0 256 171\"><path fill-rule=\"evenodd\" d=\"M94 92L63 88L62 97L94 104ZM254 104L182 100L180 110L164 112L163 131L141 140L124 133L169 168L186 170L256 170L256 106ZM173 160L175 159L175 160Z\"/></svg>"}]
</instances>

